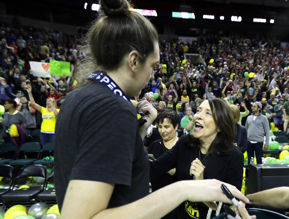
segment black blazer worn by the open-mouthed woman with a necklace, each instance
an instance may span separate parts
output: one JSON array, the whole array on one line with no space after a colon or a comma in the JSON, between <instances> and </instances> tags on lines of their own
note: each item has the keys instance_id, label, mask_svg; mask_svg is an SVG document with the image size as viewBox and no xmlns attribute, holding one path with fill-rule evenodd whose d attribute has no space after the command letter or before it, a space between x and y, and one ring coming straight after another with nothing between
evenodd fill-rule
<instances>
[{"instance_id":1,"label":"black blazer worn by the open-mouthed woman with a necklace","mask_svg":"<svg viewBox=\"0 0 289 219\"><path fill-rule=\"evenodd\" d=\"M194 175L190 175L191 162L196 158L200 159L199 148L189 148L185 141L188 135L183 135L176 145L169 151L159 157L157 160L150 162L150 180L154 180L161 175L166 174L170 169L176 168L178 181L192 180ZM242 188L244 155L234 145L232 150L227 154L221 154L218 157L207 156L204 160L201 159L204 169L204 179L218 179L225 183ZM204 188L205 189L205 188ZM207 206L203 203L182 203L175 209L176 218L192 218L188 215L187 206L192 206L199 211L200 218L206 218ZM185 211L185 209L187 209ZM192 215L193 211L191 211Z\"/></svg>"}]
</instances>

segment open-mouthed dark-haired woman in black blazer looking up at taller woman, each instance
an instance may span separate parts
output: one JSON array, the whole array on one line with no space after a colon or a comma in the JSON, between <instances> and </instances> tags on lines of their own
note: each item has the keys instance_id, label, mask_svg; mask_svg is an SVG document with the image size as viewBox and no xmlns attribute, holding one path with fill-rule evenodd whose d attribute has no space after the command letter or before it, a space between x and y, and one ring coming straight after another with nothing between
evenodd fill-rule
<instances>
[{"instance_id":1,"label":"open-mouthed dark-haired woman in black blazer looking up at taller woman","mask_svg":"<svg viewBox=\"0 0 289 219\"><path fill-rule=\"evenodd\" d=\"M225 101L204 100L194 114L193 132L180 137L172 149L151 162L151 181L176 168L181 180L218 179L242 187L244 156L233 145L236 135L234 117ZM194 209L194 210L192 210ZM206 218L208 207L201 202L183 202L173 218Z\"/></svg>"}]
</instances>

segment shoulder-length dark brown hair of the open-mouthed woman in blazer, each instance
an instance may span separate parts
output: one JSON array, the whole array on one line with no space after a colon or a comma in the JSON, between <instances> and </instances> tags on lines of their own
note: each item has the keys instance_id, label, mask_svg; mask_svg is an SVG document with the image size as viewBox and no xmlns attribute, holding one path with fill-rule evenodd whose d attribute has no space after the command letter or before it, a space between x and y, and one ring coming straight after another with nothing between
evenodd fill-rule
<instances>
[{"instance_id":1,"label":"shoulder-length dark brown hair of the open-mouthed woman in blazer","mask_svg":"<svg viewBox=\"0 0 289 219\"><path fill-rule=\"evenodd\" d=\"M220 130L216 138L212 141L207 154L218 156L221 153L231 151L231 145L234 143L237 132L236 125L232 110L224 100L218 98L207 98L207 100L209 101L216 126ZM194 138L191 134L188 135L186 143L189 147L200 147L200 140Z\"/></svg>"}]
</instances>

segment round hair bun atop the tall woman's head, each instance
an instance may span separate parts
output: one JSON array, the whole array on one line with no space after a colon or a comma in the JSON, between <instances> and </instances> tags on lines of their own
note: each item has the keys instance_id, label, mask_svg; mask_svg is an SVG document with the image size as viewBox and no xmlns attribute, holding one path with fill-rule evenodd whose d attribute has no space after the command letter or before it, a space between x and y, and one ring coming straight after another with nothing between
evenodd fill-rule
<instances>
[{"instance_id":1,"label":"round hair bun atop the tall woman's head","mask_svg":"<svg viewBox=\"0 0 289 219\"><path fill-rule=\"evenodd\" d=\"M127 0L100 0L100 9L107 17L119 17L129 13Z\"/></svg>"}]
</instances>

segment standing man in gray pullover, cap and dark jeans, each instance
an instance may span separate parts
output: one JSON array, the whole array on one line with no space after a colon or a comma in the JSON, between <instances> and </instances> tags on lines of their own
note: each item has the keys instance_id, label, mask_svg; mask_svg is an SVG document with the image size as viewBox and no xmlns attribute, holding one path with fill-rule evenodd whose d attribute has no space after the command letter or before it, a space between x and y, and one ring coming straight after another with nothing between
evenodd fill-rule
<instances>
[{"instance_id":1,"label":"standing man in gray pullover, cap and dark jeans","mask_svg":"<svg viewBox=\"0 0 289 219\"><path fill-rule=\"evenodd\" d=\"M264 145L265 151L268 150L269 138L270 138L270 127L267 118L262 115L261 112L262 104L255 102L252 105L252 115L247 117L246 129L248 133L247 142L247 154L248 159L254 157L254 151L256 154L257 164L262 164L262 148L264 142L264 136L266 136L266 142Z\"/></svg>"}]
</instances>

